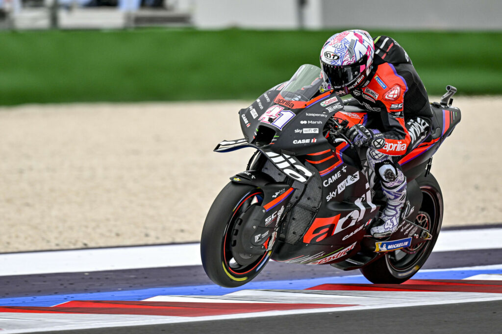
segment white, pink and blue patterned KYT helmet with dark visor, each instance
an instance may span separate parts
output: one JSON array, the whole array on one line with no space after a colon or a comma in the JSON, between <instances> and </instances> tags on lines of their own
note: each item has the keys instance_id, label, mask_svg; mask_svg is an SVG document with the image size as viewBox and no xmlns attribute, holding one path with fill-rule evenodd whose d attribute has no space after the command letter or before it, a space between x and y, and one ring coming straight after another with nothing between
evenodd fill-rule
<instances>
[{"instance_id":1,"label":"white, pink and blue patterned KYT helmet with dark visor","mask_svg":"<svg viewBox=\"0 0 502 334\"><path fill-rule=\"evenodd\" d=\"M374 44L364 30L347 30L331 36L321 49L321 68L331 87L345 95L371 72Z\"/></svg>"}]
</instances>

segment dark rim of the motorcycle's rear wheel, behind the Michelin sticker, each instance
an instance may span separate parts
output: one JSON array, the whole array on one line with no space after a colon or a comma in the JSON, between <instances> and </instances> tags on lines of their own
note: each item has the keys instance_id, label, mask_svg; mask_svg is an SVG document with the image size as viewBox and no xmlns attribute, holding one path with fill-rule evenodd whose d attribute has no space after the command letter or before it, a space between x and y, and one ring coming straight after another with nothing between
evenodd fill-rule
<instances>
[{"instance_id":1,"label":"dark rim of the motorcycle's rear wheel, behind the Michelin sticker","mask_svg":"<svg viewBox=\"0 0 502 334\"><path fill-rule=\"evenodd\" d=\"M435 189L429 186L420 188L423 195L422 207L420 208L415 223L429 230L431 234L437 234L441 227L442 206L441 197ZM416 271L417 264L433 246L432 240L427 240L412 247L398 249L386 254L388 265L397 272Z\"/></svg>"}]
</instances>

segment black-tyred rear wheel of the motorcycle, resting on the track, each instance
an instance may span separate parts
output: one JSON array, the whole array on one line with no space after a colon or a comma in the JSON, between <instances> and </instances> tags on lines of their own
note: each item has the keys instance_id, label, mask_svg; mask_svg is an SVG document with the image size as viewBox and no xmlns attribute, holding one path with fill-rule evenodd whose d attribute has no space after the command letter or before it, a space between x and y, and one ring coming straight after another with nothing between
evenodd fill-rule
<instances>
[{"instance_id":1,"label":"black-tyred rear wheel of the motorcycle, resting on the track","mask_svg":"<svg viewBox=\"0 0 502 334\"><path fill-rule=\"evenodd\" d=\"M432 252L443 220L443 195L432 174L417 178L423 200L415 224L432 234L432 239L404 249L386 253L385 256L362 267L364 277L372 283L400 284L407 281L424 265Z\"/></svg>"}]
</instances>

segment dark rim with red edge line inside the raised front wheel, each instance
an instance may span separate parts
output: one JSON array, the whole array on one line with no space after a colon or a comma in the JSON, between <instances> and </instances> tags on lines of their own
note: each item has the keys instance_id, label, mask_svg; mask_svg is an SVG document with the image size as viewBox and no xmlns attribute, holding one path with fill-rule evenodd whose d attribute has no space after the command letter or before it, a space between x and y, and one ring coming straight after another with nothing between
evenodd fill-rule
<instances>
[{"instance_id":1,"label":"dark rim with red edge line inside the raised front wheel","mask_svg":"<svg viewBox=\"0 0 502 334\"><path fill-rule=\"evenodd\" d=\"M225 228L225 234L223 237L223 266L224 269L228 270L233 275L245 275L253 270L258 270L263 263L270 256L270 251L264 250L262 255L250 255L248 254L233 254L232 246L237 242L237 236L240 231L239 227L243 223L240 216L248 210L253 205L261 205L263 202L263 193L259 190L254 190L247 193L242 199L237 202L233 210L232 217ZM266 242L267 243L267 242ZM265 243L265 244L266 244ZM240 264L239 260L244 259L245 262L250 262L250 264ZM241 261L244 262L244 261Z\"/></svg>"}]
</instances>

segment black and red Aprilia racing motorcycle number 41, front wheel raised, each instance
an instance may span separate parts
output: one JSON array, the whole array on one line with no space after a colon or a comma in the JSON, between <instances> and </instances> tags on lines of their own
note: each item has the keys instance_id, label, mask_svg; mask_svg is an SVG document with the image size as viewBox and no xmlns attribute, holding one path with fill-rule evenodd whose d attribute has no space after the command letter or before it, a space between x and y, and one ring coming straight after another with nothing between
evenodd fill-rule
<instances>
[{"instance_id":1,"label":"black and red Aprilia racing motorcycle number 41, front wheel raised","mask_svg":"<svg viewBox=\"0 0 502 334\"><path fill-rule=\"evenodd\" d=\"M402 283L436 243L443 197L430 169L432 155L460 121L460 110L451 106L456 88L447 86L441 101L431 104L430 134L399 160L408 181L399 228L375 239L368 231L385 196L368 177L365 150L344 135L354 124L370 126L367 111L332 90L322 92L319 73L317 66L302 65L289 81L241 109L244 138L214 149L256 149L204 223L202 264L216 284L245 284L270 259L359 269L373 283Z\"/></svg>"}]
</instances>

